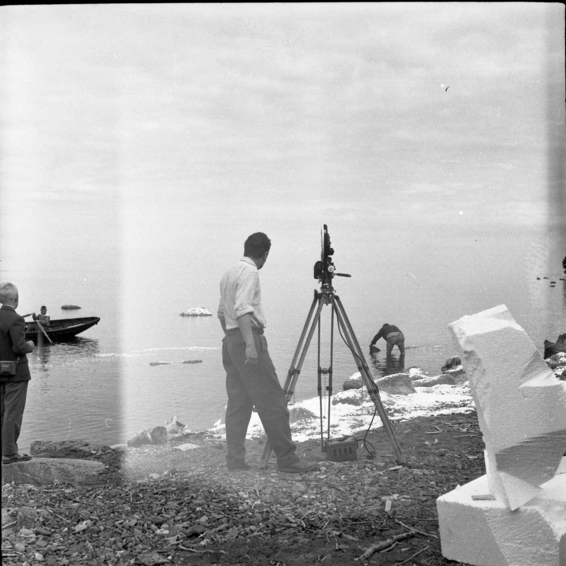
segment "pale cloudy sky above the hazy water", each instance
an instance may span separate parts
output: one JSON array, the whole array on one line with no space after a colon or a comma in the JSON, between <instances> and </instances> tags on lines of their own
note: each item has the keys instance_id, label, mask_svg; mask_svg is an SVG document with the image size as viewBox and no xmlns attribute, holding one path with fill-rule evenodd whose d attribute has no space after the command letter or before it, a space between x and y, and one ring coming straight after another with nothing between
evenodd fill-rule
<instances>
[{"instance_id":1,"label":"pale cloudy sky above the hazy water","mask_svg":"<svg viewBox=\"0 0 566 566\"><path fill-rule=\"evenodd\" d=\"M566 225L558 3L4 6L0 66L5 257L55 208L124 255L164 218Z\"/></svg>"}]
</instances>

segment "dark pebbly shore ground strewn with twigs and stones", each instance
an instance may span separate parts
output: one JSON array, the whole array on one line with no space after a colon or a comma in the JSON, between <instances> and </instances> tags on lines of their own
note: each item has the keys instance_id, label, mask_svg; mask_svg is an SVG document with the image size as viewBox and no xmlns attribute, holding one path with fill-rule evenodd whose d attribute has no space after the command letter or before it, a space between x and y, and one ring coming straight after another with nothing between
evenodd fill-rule
<instances>
[{"instance_id":1,"label":"dark pebbly shore ground strewn with twigs and stones","mask_svg":"<svg viewBox=\"0 0 566 566\"><path fill-rule=\"evenodd\" d=\"M320 467L297 475L278 472L273 460L257 467L261 439L247 445L256 467L238 472L224 465L224 441L206 433L97 447L89 457L107 468L96 482L2 485L2 564L456 564L440 552L436 498L485 473L477 415L393 427L405 466L376 428L354 461L327 461L320 441L299 444ZM179 449L186 443L199 448ZM364 556L377 543L385 551Z\"/></svg>"}]
</instances>

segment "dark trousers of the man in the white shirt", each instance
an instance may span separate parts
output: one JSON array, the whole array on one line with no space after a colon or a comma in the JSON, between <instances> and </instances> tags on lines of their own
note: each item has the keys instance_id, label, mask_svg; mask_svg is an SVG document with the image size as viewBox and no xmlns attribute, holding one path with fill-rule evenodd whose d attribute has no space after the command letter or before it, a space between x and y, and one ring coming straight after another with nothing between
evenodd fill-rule
<instances>
[{"instance_id":1,"label":"dark trousers of the man in the white shirt","mask_svg":"<svg viewBox=\"0 0 566 566\"><path fill-rule=\"evenodd\" d=\"M291 440L289 410L275 367L267 351L263 334L254 333L258 352L257 365L246 362L246 342L239 329L229 330L222 340L222 363L226 370L226 444L228 465L241 464L246 457L245 440L252 408L258 411L261 424L279 467L297 462L295 443Z\"/></svg>"}]
</instances>

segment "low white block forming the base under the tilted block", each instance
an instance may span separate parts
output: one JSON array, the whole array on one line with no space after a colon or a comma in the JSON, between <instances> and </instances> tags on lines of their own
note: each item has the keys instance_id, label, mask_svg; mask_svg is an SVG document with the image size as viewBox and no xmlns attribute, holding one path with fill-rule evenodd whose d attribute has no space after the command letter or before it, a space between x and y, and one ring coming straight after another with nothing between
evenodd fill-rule
<instances>
[{"instance_id":1,"label":"low white block forming the base under the tilted block","mask_svg":"<svg viewBox=\"0 0 566 566\"><path fill-rule=\"evenodd\" d=\"M566 458L564 458L566 461ZM487 475L436 500L442 554L477 566L566 566L566 474L516 511L489 493Z\"/></svg>"}]
</instances>

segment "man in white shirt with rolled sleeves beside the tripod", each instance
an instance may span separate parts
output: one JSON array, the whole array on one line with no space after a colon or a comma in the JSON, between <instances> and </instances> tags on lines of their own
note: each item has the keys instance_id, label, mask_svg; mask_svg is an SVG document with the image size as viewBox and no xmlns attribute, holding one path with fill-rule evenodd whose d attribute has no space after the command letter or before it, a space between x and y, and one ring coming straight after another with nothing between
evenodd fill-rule
<instances>
[{"instance_id":1,"label":"man in white shirt with rolled sleeves beside the tripod","mask_svg":"<svg viewBox=\"0 0 566 566\"><path fill-rule=\"evenodd\" d=\"M277 468L288 473L315 470L297 456L291 439L285 393L267 351L265 315L261 307L259 269L271 248L263 232L251 234L244 257L222 276L218 318L224 330L222 363L226 370L226 464L247 470L245 440L252 409L258 411L265 434L277 457Z\"/></svg>"}]
</instances>

